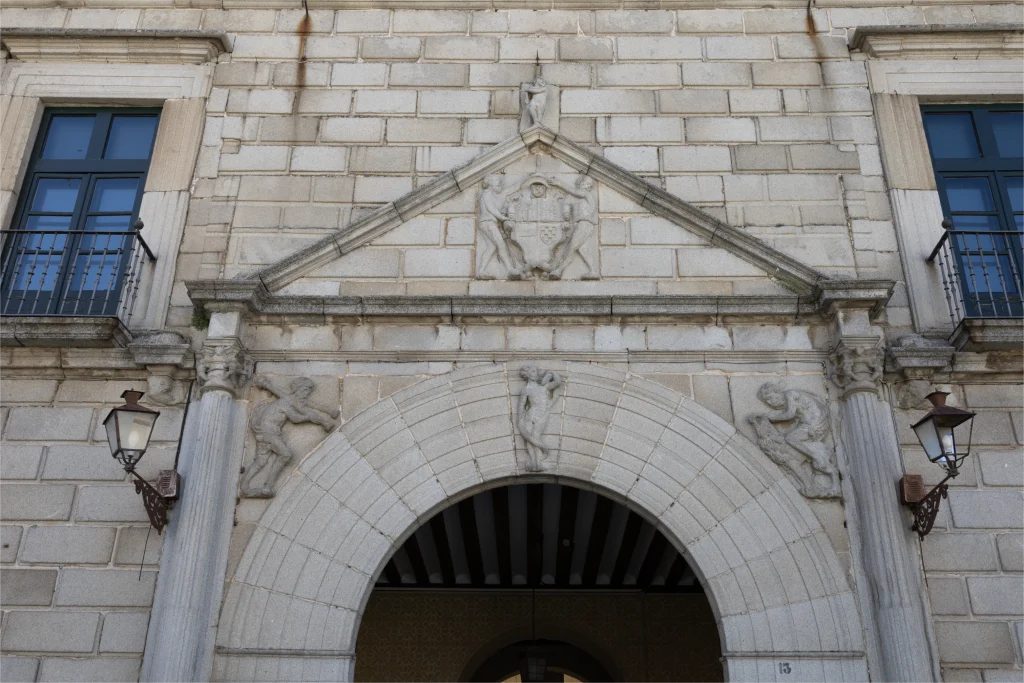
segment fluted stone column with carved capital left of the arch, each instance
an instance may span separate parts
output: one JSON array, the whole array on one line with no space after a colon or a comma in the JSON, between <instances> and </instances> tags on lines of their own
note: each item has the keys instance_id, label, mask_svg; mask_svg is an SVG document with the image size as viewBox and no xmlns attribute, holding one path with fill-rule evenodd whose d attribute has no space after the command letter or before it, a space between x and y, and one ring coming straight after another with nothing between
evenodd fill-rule
<instances>
[{"instance_id":1,"label":"fluted stone column with carved capital left of the arch","mask_svg":"<svg viewBox=\"0 0 1024 683\"><path fill-rule=\"evenodd\" d=\"M214 315L211 334L223 328L223 315ZM228 314L226 323L237 333L240 316ZM245 437L236 398L250 364L237 337L208 338L199 356L201 398L182 443L183 490L164 542L142 683L208 683L213 664Z\"/></svg>"}]
</instances>

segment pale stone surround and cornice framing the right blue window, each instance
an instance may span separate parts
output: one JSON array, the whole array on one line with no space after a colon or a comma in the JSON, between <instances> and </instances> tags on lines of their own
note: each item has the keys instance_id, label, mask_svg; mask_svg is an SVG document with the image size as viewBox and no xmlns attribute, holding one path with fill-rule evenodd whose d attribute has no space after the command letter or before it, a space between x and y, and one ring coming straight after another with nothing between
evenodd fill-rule
<instances>
[{"instance_id":1,"label":"pale stone surround and cornice framing the right blue window","mask_svg":"<svg viewBox=\"0 0 1024 683\"><path fill-rule=\"evenodd\" d=\"M887 49L886 58L868 56L867 75L910 308L921 334L947 338L952 331L938 268L926 262L942 237L942 207L921 104L1024 101L1019 41L1011 40L1019 39L1019 33L1006 27L967 31L957 25L860 27L851 39L852 46L864 48L865 56L872 51L868 49L872 41L901 46ZM951 38L945 43L946 58L936 58L941 53L936 46L943 42L935 34ZM964 48L959 38L965 36L976 46L985 46L979 53L986 58L958 55ZM932 49L918 52L915 47L924 41ZM997 49L1000 45L1005 49Z\"/></svg>"}]
</instances>

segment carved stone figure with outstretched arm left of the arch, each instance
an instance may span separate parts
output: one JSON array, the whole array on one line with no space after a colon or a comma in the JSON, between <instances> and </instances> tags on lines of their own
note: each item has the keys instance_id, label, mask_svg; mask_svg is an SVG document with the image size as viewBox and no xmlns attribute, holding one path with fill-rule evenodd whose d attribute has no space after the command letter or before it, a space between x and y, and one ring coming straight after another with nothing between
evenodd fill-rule
<instances>
[{"instance_id":1,"label":"carved stone figure with outstretched arm left of the arch","mask_svg":"<svg viewBox=\"0 0 1024 683\"><path fill-rule=\"evenodd\" d=\"M252 498L271 498L278 475L295 457L285 442L285 423L312 422L332 431L338 427L338 411L326 413L309 404L309 396L315 387L305 377L292 380L288 392L274 388L265 377L257 377L253 385L266 389L278 398L263 401L253 409L249 426L256 436L256 457L243 479L242 494ZM253 480L264 470L263 483L254 486Z\"/></svg>"}]
</instances>

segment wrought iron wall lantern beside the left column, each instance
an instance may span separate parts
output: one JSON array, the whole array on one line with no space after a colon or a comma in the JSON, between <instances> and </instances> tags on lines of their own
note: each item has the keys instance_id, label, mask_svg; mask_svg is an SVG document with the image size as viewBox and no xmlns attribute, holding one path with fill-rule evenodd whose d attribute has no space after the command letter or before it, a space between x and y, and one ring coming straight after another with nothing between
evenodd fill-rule
<instances>
[{"instance_id":1,"label":"wrought iron wall lantern beside the left column","mask_svg":"<svg viewBox=\"0 0 1024 683\"><path fill-rule=\"evenodd\" d=\"M106 442L114 459L121 463L125 472L135 477L135 493L142 495L150 523L160 533L167 525L167 511L177 499L180 478L174 470L162 470L155 487L135 471L135 465L150 447L150 437L160 413L138 404L141 391L125 391L121 397L125 404L113 409L103 420Z\"/></svg>"}]
</instances>

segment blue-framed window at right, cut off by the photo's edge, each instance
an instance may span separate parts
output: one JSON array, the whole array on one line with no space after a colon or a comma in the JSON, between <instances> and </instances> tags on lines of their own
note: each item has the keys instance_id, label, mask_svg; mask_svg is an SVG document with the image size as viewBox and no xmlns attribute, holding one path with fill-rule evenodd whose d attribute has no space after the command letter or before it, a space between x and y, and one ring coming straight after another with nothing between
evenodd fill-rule
<instances>
[{"instance_id":1,"label":"blue-framed window at right, cut off by the photo's edge","mask_svg":"<svg viewBox=\"0 0 1024 683\"><path fill-rule=\"evenodd\" d=\"M967 316L1024 316L1024 105L922 116Z\"/></svg>"}]
</instances>

